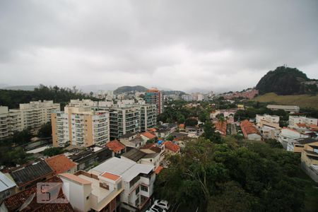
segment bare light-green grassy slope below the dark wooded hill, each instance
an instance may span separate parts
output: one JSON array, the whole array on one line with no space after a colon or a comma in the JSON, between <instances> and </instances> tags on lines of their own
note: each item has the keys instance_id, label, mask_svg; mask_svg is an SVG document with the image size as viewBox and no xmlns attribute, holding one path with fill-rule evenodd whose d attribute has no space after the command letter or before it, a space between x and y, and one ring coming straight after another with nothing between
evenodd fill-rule
<instances>
[{"instance_id":1,"label":"bare light-green grassy slope below the dark wooded hill","mask_svg":"<svg viewBox=\"0 0 318 212\"><path fill-rule=\"evenodd\" d=\"M253 99L259 102L276 102L280 105L298 105L302 108L312 107L318 110L318 95L277 95L276 93L266 93Z\"/></svg>"}]
</instances>

